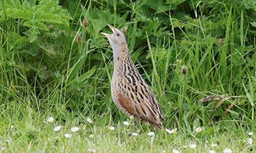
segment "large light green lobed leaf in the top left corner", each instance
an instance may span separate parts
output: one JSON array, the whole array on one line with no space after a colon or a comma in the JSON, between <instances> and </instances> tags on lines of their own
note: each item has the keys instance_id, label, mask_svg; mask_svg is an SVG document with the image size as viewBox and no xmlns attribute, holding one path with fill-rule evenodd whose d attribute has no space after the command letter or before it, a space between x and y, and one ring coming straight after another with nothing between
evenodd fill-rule
<instances>
[{"instance_id":1,"label":"large light green lobed leaf in the top left corner","mask_svg":"<svg viewBox=\"0 0 256 153\"><path fill-rule=\"evenodd\" d=\"M5 0L5 12L0 3L0 23L7 19L24 19L23 26L28 27L30 42L37 39L40 30L49 31L45 23L69 26L72 17L67 10L58 5L58 1L41 0L37 5L29 6L27 1ZM6 13L6 16L5 16ZM21 22L22 23L22 22Z\"/></svg>"}]
</instances>

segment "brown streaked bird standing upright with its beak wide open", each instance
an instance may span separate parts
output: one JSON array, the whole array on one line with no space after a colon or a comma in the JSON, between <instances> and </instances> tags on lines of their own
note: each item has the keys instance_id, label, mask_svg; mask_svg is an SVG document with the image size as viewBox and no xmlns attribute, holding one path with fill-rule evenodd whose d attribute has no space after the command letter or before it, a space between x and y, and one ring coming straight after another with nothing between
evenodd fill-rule
<instances>
[{"instance_id":1,"label":"brown streaked bird standing upright with its beak wide open","mask_svg":"<svg viewBox=\"0 0 256 153\"><path fill-rule=\"evenodd\" d=\"M126 37L121 30L107 24L113 34L101 32L113 50L114 71L111 96L116 107L136 121L148 122L156 130L163 129L165 120L156 96L142 78L130 58Z\"/></svg>"}]
</instances>

